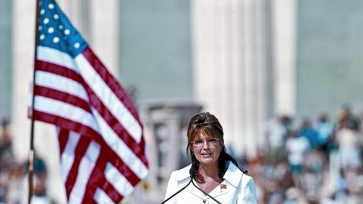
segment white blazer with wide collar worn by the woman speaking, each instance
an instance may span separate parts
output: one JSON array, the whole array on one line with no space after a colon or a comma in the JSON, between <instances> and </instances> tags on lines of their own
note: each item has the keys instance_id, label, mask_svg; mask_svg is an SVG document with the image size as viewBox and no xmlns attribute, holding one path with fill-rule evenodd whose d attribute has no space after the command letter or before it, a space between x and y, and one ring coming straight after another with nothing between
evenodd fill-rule
<instances>
[{"instance_id":1,"label":"white blazer with wide collar worn by the woman speaking","mask_svg":"<svg viewBox=\"0 0 363 204\"><path fill-rule=\"evenodd\" d=\"M232 162L227 163L228 168L223 176L223 181L209 195L223 204L257 204L256 187L253 178L243 174ZM166 189L166 200L179 191L190 181L189 170L192 165L173 171L170 175ZM196 181L193 181L196 185ZM210 197L205 196L192 183L178 195L166 202L166 204L215 204Z\"/></svg>"}]
</instances>

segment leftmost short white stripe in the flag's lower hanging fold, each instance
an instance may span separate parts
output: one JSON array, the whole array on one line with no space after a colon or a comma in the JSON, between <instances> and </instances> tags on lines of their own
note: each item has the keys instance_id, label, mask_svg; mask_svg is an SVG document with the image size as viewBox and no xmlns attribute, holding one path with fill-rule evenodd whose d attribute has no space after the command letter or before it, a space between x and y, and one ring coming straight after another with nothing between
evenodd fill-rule
<instances>
[{"instance_id":1,"label":"leftmost short white stripe in the flag's lower hanging fold","mask_svg":"<svg viewBox=\"0 0 363 204\"><path fill-rule=\"evenodd\" d=\"M69 131L68 141L61 155L61 172L64 183L68 178L70 169L74 162L76 147L81 136L73 131Z\"/></svg>"}]
</instances>

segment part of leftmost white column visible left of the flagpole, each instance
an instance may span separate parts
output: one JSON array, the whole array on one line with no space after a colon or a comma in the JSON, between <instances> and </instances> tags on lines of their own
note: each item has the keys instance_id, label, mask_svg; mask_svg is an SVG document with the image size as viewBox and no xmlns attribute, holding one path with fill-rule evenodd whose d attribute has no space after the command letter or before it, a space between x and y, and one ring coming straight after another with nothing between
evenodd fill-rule
<instances>
[{"instance_id":1,"label":"part of leftmost white column visible left of the flagpole","mask_svg":"<svg viewBox=\"0 0 363 204\"><path fill-rule=\"evenodd\" d=\"M12 136L14 151L20 160L25 160L29 152L30 120L27 113L34 54L34 11L35 1L13 1Z\"/></svg>"}]
</instances>

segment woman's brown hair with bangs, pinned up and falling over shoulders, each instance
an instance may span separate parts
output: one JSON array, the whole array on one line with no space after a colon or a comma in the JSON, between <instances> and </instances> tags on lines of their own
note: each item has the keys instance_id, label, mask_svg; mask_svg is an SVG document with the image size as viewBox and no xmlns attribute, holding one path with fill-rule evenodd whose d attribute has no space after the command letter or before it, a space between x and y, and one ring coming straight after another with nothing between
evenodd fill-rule
<instances>
[{"instance_id":1,"label":"woman's brown hair with bangs, pinned up and falling over shoulders","mask_svg":"<svg viewBox=\"0 0 363 204\"><path fill-rule=\"evenodd\" d=\"M189 121L188 132L187 132L187 137L188 137L187 154L191 157L192 160L191 173L194 174L194 178L198 183L205 182L203 176L198 173L199 161L195 158L191 145L191 142L195 138L197 138L201 132L204 132L209 136L220 138L220 141L223 144L218 158L218 168L219 168L218 176L220 179L223 179L223 176L227 171L226 162L231 161L237 167L238 164L237 161L226 151L223 140L223 128L221 124L219 123L218 119L209 112L196 114Z\"/></svg>"}]
</instances>

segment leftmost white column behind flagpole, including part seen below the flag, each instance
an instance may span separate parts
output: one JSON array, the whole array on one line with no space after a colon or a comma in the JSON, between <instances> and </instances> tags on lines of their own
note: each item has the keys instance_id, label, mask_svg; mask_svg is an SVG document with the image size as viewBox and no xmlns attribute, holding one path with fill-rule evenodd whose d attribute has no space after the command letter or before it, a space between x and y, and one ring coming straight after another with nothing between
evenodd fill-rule
<instances>
[{"instance_id":1,"label":"leftmost white column behind flagpole, including part seen below the flag","mask_svg":"<svg viewBox=\"0 0 363 204\"><path fill-rule=\"evenodd\" d=\"M35 1L13 1L13 94L12 136L14 153L24 162L29 155L30 119L27 118L30 78L34 62ZM48 194L65 203L65 190L59 171L58 139L55 127L35 123L34 149L44 159L48 169ZM24 198L27 191L24 189Z\"/></svg>"}]
</instances>

